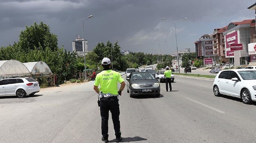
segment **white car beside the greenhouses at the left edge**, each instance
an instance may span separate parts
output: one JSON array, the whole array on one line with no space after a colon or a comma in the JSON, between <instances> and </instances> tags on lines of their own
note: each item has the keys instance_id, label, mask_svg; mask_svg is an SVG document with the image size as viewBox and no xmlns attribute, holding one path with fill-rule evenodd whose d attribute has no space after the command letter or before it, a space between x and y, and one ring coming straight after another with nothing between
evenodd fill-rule
<instances>
[{"instance_id":1,"label":"white car beside the greenhouses at the left edge","mask_svg":"<svg viewBox=\"0 0 256 143\"><path fill-rule=\"evenodd\" d=\"M6 78L0 80L0 96L26 97L40 91L39 83L34 78Z\"/></svg>"}]
</instances>

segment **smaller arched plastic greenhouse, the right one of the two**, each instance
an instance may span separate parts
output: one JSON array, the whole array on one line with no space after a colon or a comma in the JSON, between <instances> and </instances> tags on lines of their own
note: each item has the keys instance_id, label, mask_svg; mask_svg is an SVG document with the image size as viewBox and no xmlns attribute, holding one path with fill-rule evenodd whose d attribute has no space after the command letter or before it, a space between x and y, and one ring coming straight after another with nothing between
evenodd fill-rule
<instances>
[{"instance_id":1,"label":"smaller arched plastic greenhouse, the right one of the two","mask_svg":"<svg viewBox=\"0 0 256 143\"><path fill-rule=\"evenodd\" d=\"M30 72L30 77L41 78L52 76L52 71L49 66L43 61L35 61L23 63Z\"/></svg>"}]
</instances>

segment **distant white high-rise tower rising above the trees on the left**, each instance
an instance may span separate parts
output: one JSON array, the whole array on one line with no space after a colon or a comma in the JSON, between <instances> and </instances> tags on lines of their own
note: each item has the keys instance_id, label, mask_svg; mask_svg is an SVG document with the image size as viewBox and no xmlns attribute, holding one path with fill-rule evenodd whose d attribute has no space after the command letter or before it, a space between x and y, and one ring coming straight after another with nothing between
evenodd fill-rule
<instances>
[{"instance_id":1,"label":"distant white high-rise tower rising above the trees on the left","mask_svg":"<svg viewBox=\"0 0 256 143\"><path fill-rule=\"evenodd\" d=\"M85 54L88 53L88 41L84 40L84 38L80 38L78 35L76 36L76 40L72 41L72 48L73 51L76 52L79 57L83 57L84 51Z\"/></svg>"}]
</instances>

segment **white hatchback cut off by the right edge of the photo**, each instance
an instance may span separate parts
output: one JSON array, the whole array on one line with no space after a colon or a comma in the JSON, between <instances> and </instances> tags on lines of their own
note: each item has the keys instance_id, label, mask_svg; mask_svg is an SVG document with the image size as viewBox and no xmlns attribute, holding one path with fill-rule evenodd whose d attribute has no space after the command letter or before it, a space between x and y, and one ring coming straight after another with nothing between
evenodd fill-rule
<instances>
[{"instance_id":1,"label":"white hatchback cut off by the right edge of the photo","mask_svg":"<svg viewBox=\"0 0 256 143\"><path fill-rule=\"evenodd\" d=\"M215 96L227 95L241 98L245 104L256 101L256 70L220 71L214 79L213 92Z\"/></svg>"}]
</instances>

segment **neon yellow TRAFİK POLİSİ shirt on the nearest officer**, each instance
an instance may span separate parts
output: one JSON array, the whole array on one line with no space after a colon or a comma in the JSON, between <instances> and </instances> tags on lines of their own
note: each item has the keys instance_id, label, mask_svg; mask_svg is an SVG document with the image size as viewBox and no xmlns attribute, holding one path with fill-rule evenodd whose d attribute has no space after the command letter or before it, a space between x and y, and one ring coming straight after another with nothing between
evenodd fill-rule
<instances>
[{"instance_id":1,"label":"neon yellow TRAF\u0130K POL\u0130S\u0130 shirt on the nearest officer","mask_svg":"<svg viewBox=\"0 0 256 143\"><path fill-rule=\"evenodd\" d=\"M118 95L117 82L124 82L120 73L113 70L105 70L96 75L94 85L100 85L100 91L104 94Z\"/></svg>"}]
</instances>

